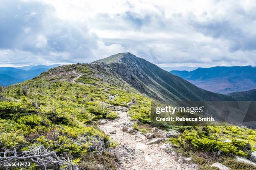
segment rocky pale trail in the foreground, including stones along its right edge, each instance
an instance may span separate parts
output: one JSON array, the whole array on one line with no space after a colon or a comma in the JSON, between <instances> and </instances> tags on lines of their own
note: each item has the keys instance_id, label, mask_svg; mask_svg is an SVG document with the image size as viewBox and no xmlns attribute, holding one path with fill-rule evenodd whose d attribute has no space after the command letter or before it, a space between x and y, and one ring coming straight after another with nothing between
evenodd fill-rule
<instances>
[{"instance_id":1,"label":"rocky pale trail in the foreground, including stones along its right edge","mask_svg":"<svg viewBox=\"0 0 256 170\"><path fill-rule=\"evenodd\" d=\"M119 107L120 108L120 107ZM180 157L166 144L165 138L152 138L152 132L142 134L133 130L133 122L127 115L127 108L117 111L119 117L113 121L101 121L98 127L120 144L115 148L119 159L119 170L195 170L197 165L190 163L191 158ZM118 109L120 110L120 109ZM161 132L161 130L159 131Z\"/></svg>"}]
</instances>

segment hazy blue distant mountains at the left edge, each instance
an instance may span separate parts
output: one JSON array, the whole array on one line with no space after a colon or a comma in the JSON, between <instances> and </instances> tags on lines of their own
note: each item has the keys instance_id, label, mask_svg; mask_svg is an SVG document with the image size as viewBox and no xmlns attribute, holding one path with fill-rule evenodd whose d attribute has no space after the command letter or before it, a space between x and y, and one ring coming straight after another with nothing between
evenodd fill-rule
<instances>
[{"instance_id":1,"label":"hazy blue distant mountains at the left edge","mask_svg":"<svg viewBox=\"0 0 256 170\"><path fill-rule=\"evenodd\" d=\"M0 67L0 85L7 86L29 80L59 65L30 65L25 67Z\"/></svg>"}]
</instances>

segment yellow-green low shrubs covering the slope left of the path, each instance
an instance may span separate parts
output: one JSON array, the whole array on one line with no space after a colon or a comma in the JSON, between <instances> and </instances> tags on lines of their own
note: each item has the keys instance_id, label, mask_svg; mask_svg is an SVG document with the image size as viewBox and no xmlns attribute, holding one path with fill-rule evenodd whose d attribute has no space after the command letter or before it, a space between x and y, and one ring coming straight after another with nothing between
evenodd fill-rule
<instances>
[{"instance_id":1,"label":"yellow-green low shrubs covering the slope left of the path","mask_svg":"<svg viewBox=\"0 0 256 170\"><path fill-rule=\"evenodd\" d=\"M108 95L116 94L116 98L109 99ZM95 168L92 162L87 164L89 160L116 169L115 158L107 151L116 143L94 123L102 118L118 117L117 112L107 106L122 105L121 102L130 102L134 98L138 105L146 107L149 101L142 95L118 87L100 83L84 85L57 78L49 81L36 78L1 88L0 96L0 152L13 151L14 148L27 151L44 145L60 158L67 153L73 163L87 169ZM107 149L101 156L91 142L95 139L103 141Z\"/></svg>"}]
</instances>

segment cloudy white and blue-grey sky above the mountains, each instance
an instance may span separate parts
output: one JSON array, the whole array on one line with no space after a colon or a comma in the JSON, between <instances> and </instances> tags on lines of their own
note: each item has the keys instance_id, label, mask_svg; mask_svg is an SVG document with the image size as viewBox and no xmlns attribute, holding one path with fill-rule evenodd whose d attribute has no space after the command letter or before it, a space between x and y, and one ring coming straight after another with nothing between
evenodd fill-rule
<instances>
[{"instance_id":1,"label":"cloudy white and blue-grey sky above the mountains","mask_svg":"<svg viewBox=\"0 0 256 170\"><path fill-rule=\"evenodd\" d=\"M256 65L255 0L1 0L0 66L131 52L160 67Z\"/></svg>"}]
</instances>

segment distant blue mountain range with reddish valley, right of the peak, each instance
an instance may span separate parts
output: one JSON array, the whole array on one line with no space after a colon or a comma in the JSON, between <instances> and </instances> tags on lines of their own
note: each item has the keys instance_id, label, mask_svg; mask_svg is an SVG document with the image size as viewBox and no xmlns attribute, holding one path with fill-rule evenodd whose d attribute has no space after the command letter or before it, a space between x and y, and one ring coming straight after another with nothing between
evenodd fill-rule
<instances>
[{"instance_id":1,"label":"distant blue mountain range with reddish valley, right of the peak","mask_svg":"<svg viewBox=\"0 0 256 170\"><path fill-rule=\"evenodd\" d=\"M256 67L252 66L210 67L170 72L202 89L222 94L256 89Z\"/></svg>"}]
</instances>

